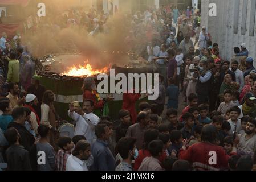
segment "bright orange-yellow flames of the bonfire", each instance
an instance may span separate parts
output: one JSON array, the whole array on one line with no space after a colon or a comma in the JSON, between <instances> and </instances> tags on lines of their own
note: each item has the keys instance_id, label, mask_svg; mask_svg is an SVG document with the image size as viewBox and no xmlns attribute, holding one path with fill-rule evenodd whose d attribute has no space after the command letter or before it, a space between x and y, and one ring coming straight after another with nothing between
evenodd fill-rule
<instances>
[{"instance_id":1,"label":"bright orange-yellow flames of the bonfire","mask_svg":"<svg viewBox=\"0 0 256 182\"><path fill-rule=\"evenodd\" d=\"M100 73L107 73L108 68L105 67L101 70L92 70L92 66L90 64L87 64L86 66L81 66L78 65L78 67L76 67L75 65L73 65L72 67L68 68L67 72L62 73L62 75L68 75L68 76L93 76L93 75L98 75Z\"/></svg>"}]
</instances>

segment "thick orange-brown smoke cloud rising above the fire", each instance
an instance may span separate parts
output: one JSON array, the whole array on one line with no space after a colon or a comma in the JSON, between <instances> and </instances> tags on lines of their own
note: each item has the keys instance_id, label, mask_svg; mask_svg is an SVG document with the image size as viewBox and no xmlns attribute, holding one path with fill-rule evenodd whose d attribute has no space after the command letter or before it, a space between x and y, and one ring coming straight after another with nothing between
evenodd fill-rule
<instances>
[{"instance_id":1,"label":"thick orange-brown smoke cloud rising above the fire","mask_svg":"<svg viewBox=\"0 0 256 182\"><path fill-rule=\"evenodd\" d=\"M109 64L121 66L128 63L129 57L123 56L121 52L131 52L131 44L135 42L127 42L127 37L131 34L131 23L129 23L131 20L126 14L118 13L111 16L103 25L103 33L90 36L86 27L72 23L68 27L56 26L56 22L59 24L63 20L63 15L68 14L71 7L80 12L86 11L91 7L90 2L83 2L84 8L80 6L80 1L40 2L46 4L46 17L39 19L36 33L30 31L23 36L23 43L28 45L34 57L42 58L47 54L82 53L84 60L72 60L70 66L83 65L83 61L88 60L94 68L103 68ZM80 19L78 19L79 22Z\"/></svg>"}]
</instances>

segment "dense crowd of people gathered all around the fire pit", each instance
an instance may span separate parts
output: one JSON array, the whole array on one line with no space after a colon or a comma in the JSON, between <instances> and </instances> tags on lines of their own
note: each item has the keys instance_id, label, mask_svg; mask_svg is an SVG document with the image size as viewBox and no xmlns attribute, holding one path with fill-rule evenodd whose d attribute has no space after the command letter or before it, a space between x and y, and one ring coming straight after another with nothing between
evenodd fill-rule
<instances>
[{"instance_id":1,"label":"dense crowd of people gathered all around the fire pit","mask_svg":"<svg viewBox=\"0 0 256 182\"><path fill-rule=\"evenodd\" d=\"M149 8L126 16L131 30L124 41L157 65L159 98L140 102L138 113L141 95L123 94L115 120L105 111L113 98L101 99L94 77L87 77L82 107L71 103L64 111L75 122L72 138L59 137L54 93L40 84L21 36L2 35L0 163L7 164L2 170L256 169L256 69L246 43L234 47L230 60L221 59L195 8ZM58 23L84 26L95 36L108 34L108 18L93 9L70 11Z\"/></svg>"}]
</instances>

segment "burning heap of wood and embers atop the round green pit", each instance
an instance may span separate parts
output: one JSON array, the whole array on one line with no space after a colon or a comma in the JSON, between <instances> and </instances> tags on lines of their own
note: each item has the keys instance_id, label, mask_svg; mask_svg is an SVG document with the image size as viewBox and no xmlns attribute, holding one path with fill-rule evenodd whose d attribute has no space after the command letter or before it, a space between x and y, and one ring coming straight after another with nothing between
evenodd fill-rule
<instances>
[{"instance_id":1,"label":"burning heap of wood and embers atop the round green pit","mask_svg":"<svg viewBox=\"0 0 256 182\"><path fill-rule=\"evenodd\" d=\"M132 53L129 56L135 56ZM136 55L137 56L137 55ZM55 61L52 55L45 56L44 59L36 61L36 73L41 77L48 77L56 80L83 80L88 76L97 76L100 73L106 73L109 75L111 66L103 69L93 69L89 61L84 61L84 66L73 65L72 67L65 67L60 61ZM131 58L131 57L130 57ZM132 59L131 59L132 60ZM47 64L47 65L43 65ZM56 71L54 68L58 68ZM67 68L67 69L66 69ZM133 60L129 61L124 67L118 67L117 65L112 66L117 73L156 73L157 68L155 64L148 63L145 60Z\"/></svg>"}]
</instances>

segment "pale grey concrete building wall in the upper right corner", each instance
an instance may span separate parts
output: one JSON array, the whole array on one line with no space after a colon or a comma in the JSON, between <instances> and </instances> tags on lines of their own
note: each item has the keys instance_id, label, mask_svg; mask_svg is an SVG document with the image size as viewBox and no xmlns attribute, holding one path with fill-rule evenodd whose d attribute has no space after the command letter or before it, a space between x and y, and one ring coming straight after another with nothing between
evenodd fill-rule
<instances>
[{"instance_id":1,"label":"pale grey concrete building wall in the upper right corner","mask_svg":"<svg viewBox=\"0 0 256 182\"><path fill-rule=\"evenodd\" d=\"M208 5L212 2L217 5L217 17L208 15ZM255 0L202 1L201 26L208 27L213 43L219 44L222 59L230 60L234 55L233 47L240 47L241 43L245 42L249 56L256 60L255 9Z\"/></svg>"}]
</instances>

